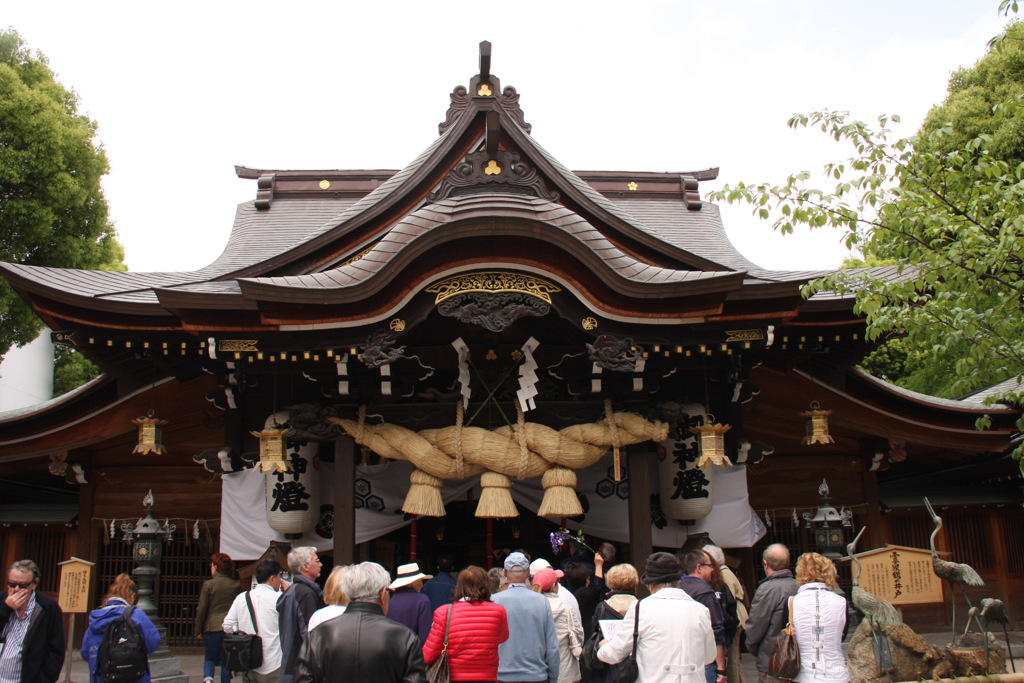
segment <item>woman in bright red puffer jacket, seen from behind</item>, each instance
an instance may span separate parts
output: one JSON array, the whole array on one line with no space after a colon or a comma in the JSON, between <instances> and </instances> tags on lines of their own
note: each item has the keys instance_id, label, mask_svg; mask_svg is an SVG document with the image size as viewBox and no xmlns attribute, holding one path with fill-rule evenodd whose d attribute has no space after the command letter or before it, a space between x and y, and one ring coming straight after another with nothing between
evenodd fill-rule
<instances>
[{"instance_id":1,"label":"woman in bright red puffer jacket, seen from behind","mask_svg":"<svg viewBox=\"0 0 1024 683\"><path fill-rule=\"evenodd\" d=\"M498 680L498 646L508 640L509 625L505 607L490 601L487 572L477 566L463 569L455 586L455 602L434 610L434 623L423 644L423 658L428 666L444 649L450 609L447 653L452 680Z\"/></svg>"}]
</instances>

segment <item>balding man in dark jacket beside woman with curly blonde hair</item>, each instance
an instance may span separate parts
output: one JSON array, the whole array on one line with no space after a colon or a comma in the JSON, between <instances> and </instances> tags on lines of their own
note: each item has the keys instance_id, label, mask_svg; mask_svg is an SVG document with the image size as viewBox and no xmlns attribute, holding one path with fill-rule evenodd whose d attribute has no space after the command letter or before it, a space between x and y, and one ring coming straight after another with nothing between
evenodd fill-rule
<instances>
[{"instance_id":1,"label":"balding man in dark jacket beside woman with curly blonde hair","mask_svg":"<svg viewBox=\"0 0 1024 683\"><path fill-rule=\"evenodd\" d=\"M758 683L781 683L768 675L768 657L775 639L788 621L788 601L797 594L797 580L790 570L790 549L780 543L762 555L765 580L758 584L746 618L746 651L757 658Z\"/></svg>"}]
</instances>

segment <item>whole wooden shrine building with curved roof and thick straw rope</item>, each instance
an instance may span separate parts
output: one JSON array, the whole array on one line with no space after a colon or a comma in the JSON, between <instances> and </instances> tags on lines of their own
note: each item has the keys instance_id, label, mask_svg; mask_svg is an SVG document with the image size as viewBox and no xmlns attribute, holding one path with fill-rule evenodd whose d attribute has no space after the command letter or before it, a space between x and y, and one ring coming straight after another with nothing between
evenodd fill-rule
<instances>
[{"instance_id":1,"label":"whole wooden shrine building with curved roof and thick straw rope","mask_svg":"<svg viewBox=\"0 0 1024 683\"><path fill-rule=\"evenodd\" d=\"M1024 617L1017 411L859 371L853 297L804 299L829 271L731 244L701 199L718 169L570 171L489 44L438 115L398 170L237 167L252 199L199 270L0 264L103 373L0 414L4 562L97 562L98 599L152 489L176 527L161 617L186 645L218 550L432 572L441 552L560 561L564 526L641 566L710 539L753 590L773 542L842 555L866 526L858 550L927 550L927 495L940 549ZM904 617L945 623L945 600Z\"/></svg>"}]
</instances>

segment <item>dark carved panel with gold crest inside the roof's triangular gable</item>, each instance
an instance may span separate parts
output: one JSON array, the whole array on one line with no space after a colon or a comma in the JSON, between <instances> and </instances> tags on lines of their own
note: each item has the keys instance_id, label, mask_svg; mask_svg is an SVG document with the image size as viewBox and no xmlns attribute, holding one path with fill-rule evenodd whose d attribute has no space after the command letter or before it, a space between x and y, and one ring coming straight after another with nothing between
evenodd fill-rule
<instances>
[{"instance_id":1,"label":"dark carved panel with gold crest inside the roof's triangular gable","mask_svg":"<svg viewBox=\"0 0 1024 683\"><path fill-rule=\"evenodd\" d=\"M466 155L427 200L437 202L477 191L532 195L549 202L558 201L558 193L550 191L545 186L537 169L519 161L519 155L506 150L497 150L493 155L486 150Z\"/></svg>"}]
</instances>

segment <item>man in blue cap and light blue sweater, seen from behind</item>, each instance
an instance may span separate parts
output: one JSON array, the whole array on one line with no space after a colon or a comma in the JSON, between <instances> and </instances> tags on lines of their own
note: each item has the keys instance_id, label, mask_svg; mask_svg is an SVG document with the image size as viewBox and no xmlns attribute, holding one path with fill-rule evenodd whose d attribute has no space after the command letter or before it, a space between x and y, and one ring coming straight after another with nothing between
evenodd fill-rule
<instances>
[{"instance_id":1,"label":"man in blue cap and light blue sweater, seen from behind","mask_svg":"<svg viewBox=\"0 0 1024 683\"><path fill-rule=\"evenodd\" d=\"M556 683L559 657L555 620L548 599L526 586L529 559L522 553L506 557L505 578L505 590L492 597L505 607L509 622L509 639L498 646L498 680Z\"/></svg>"}]
</instances>

